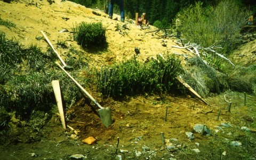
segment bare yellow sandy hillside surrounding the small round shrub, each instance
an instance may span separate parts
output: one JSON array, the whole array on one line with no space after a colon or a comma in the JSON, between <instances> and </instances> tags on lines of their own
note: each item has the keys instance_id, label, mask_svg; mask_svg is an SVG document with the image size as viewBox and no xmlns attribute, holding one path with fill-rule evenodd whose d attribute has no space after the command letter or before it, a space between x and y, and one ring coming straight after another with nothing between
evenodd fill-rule
<instances>
[{"instance_id":1,"label":"bare yellow sandy hillside surrounding the small round shrub","mask_svg":"<svg viewBox=\"0 0 256 160\"><path fill-rule=\"evenodd\" d=\"M82 21L88 23L102 22L102 25L107 29L108 49L101 54L88 53L92 60L91 63L97 64L97 66L133 57L135 54L134 47L139 47L140 49L138 57L140 60L146 60L148 57L158 53L175 52L183 54L187 52L186 50L180 51L171 47L176 45L176 39L166 39L164 43L167 46L163 46L163 38L159 38L159 36L162 36L161 32L157 33L157 35L154 32L145 34L148 31L156 30L153 26L141 30L133 20L125 20L125 23L110 20L107 18L107 14L99 10L88 9L73 2L55 1L50 5L47 1L35 1L33 3L19 1L11 4L1 1L0 5L1 18L9 20L18 26L18 28L12 29L0 26L0 30L4 31L7 37L17 39L22 45L29 46L34 44L43 50L47 48L47 43L36 39L36 37L43 36L41 30L46 33L53 45L58 41L66 41L71 46L79 49L76 42L73 42L73 34L69 32L59 33L59 31L62 29L72 31L72 28ZM101 15L95 15L92 13L93 11ZM115 18L119 19L119 15L114 15L113 19ZM121 32L125 34L120 34L119 31L116 31L117 25L121 27ZM125 25L126 28L122 28L122 25ZM58 50L58 52L65 59L65 51Z\"/></svg>"}]
</instances>

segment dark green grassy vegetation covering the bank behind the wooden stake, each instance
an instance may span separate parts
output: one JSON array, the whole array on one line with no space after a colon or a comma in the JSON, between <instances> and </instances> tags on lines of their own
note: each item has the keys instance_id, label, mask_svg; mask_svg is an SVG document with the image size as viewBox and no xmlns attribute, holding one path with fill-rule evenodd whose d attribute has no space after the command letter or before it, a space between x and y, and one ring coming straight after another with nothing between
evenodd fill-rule
<instances>
[{"instance_id":1,"label":"dark green grassy vegetation covering the bank behind the wooden stake","mask_svg":"<svg viewBox=\"0 0 256 160\"><path fill-rule=\"evenodd\" d=\"M74 49L69 53L83 58ZM35 45L23 49L18 42L8 40L4 33L0 33L0 55L1 109L15 111L21 119L27 119L37 111L49 112L55 104L51 86L54 79L59 79L67 105L82 98L82 93L71 83L71 79L62 71L57 71L54 61L58 58L51 49L48 53L41 52ZM74 59L71 55L69 59L74 68L87 66L86 59L71 60ZM78 75L78 71L73 74ZM88 82L85 77L79 78L83 85Z\"/></svg>"}]
</instances>

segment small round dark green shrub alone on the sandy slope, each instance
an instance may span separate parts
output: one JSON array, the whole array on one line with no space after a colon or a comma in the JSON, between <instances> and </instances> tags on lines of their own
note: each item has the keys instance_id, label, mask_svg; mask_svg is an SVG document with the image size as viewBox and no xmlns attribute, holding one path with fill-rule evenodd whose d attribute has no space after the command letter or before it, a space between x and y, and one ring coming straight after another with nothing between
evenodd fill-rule
<instances>
[{"instance_id":1,"label":"small round dark green shrub alone on the sandy slope","mask_svg":"<svg viewBox=\"0 0 256 160\"><path fill-rule=\"evenodd\" d=\"M97 46L105 47L107 44L106 28L102 27L101 22L81 22L75 28L74 39L77 44L86 49Z\"/></svg>"}]
</instances>

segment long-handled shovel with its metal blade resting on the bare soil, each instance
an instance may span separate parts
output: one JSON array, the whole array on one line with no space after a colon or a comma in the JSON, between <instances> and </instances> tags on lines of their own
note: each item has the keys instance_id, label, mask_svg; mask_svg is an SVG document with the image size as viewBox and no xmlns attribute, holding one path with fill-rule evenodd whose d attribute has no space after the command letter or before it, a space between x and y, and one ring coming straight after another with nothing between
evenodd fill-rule
<instances>
[{"instance_id":1,"label":"long-handled shovel with its metal blade resting on the bare soil","mask_svg":"<svg viewBox=\"0 0 256 160\"><path fill-rule=\"evenodd\" d=\"M107 128L113 124L112 118L111 118L111 111L110 108L103 108L100 106L100 104L63 68L61 67L60 63L55 62L56 65L58 65L75 83L76 85L100 108L99 115L100 119Z\"/></svg>"}]
</instances>

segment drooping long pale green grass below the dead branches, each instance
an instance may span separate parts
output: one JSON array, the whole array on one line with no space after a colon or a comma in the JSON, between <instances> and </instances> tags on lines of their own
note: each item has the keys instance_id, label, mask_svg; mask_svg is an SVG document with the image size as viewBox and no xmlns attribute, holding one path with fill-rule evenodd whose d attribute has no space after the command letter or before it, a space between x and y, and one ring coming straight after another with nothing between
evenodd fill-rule
<instances>
[{"instance_id":1,"label":"drooping long pale green grass below the dead branches","mask_svg":"<svg viewBox=\"0 0 256 160\"><path fill-rule=\"evenodd\" d=\"M193 87L193 89L203 97L210 93L220 93L226 90L253 93L255 92L256 67L230 66L217 67L215 70L209 65L205 65L201 58L195 57L188 60L189 67L182 71L182 77Z\"/></svg>"}]
</instances>

